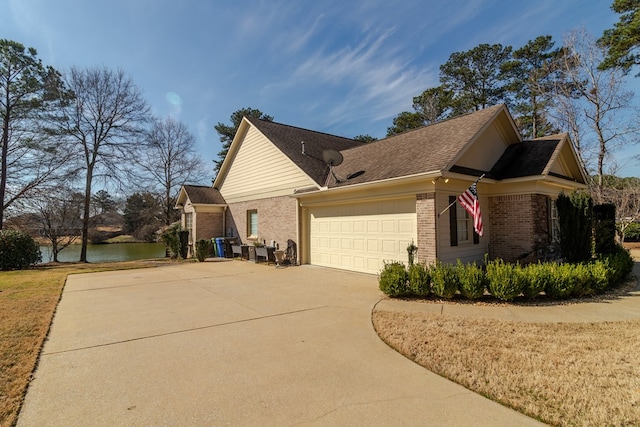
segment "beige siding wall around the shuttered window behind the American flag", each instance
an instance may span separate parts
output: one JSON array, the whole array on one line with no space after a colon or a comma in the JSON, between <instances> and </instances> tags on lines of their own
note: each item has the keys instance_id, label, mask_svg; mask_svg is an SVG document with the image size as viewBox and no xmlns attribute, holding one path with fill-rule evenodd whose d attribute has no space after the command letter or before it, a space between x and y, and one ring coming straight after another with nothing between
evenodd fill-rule
<instances>
[{"instance_id":1,"label":"beige siding wall around the shuttered window behind the American flag","mask_svg":"<svg viewBox=\"0 0 640 427\"><path fill-rule=\"evenodd\" d=\"M442 212L449 204L449 196L458 197L466 188L456 188L450 192L438 192L437 211ZM480 190L478 190L480 192ZM489 200L487 196L480 194L480 210L482 211L484 236L480 237L480 243L473 243L473 234L469 230L469 240L458 242L458 246L451 246L451 234L449 229L449 213L445 212L438 217L438 259L442 262L454 263L460 259L462 262L483 261L484 254L488 253L489 242ZM457 204L457 203L456 203ZM456 209L456 205L451 209ZM473 229L473 220L469 221L469 226Z\"/></svg>"}]
</instances>

